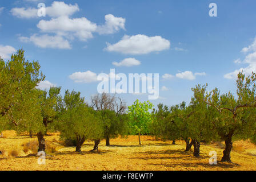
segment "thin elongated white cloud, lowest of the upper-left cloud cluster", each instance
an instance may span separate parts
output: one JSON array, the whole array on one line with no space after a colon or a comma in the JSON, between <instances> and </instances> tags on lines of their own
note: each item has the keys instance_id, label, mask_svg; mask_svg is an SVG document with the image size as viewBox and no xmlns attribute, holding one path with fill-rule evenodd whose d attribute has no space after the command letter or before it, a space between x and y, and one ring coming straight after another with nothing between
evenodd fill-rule
<instances>
[{"instance_id":1,"label":"thin elongated white cloud, lowest of the upper-left cloud cluster","mask_svg":"<svg viewBox=\"0 0 256 182\"><path fill-rule=\"evenodd\" d=\"M58 48L58 49L71 49L69 42L62 38L62 36L49 36L49 35L37 35L34 34L27 37L19 37L21 42L32 42L36 46L41 48Z\"/></svg>"}]
</instances>

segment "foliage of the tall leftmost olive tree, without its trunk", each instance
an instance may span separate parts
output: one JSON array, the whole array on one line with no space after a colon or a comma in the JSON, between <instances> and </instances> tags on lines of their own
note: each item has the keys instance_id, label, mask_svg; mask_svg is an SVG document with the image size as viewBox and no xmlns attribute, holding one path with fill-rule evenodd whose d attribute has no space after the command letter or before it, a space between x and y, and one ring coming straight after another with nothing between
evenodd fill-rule
<instances>
[{"instance_id":1,"label":"foliage of the tall leftmost olive tree, without its trunk","mask_svg":"<svg viewBox=\"0 0 256 182\"><path fill-rule=\"evenodd\" d=\"M0 59L0 129L37 130L41 125L38 93L35 86L45 76L37 61L25 61L24 51L19 49L5 62Z\"/></svg>"}]
</instances>

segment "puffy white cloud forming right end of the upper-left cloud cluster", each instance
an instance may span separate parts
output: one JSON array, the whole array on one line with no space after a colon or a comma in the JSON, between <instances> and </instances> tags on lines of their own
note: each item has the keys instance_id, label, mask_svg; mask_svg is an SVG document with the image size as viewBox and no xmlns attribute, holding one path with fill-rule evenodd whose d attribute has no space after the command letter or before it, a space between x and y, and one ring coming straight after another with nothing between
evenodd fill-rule
<instances>
[{"instance_id":1,"label":"puffy white cloud forming right end of the upper-left cloud cluster","mask_svg":"<svg viewBox=\"0 0 256 182\"><path fill-rule=\"evenodd\" d=\"M120 29L125 30L125 18L107 14L105 20L105 24L103 26L98 26L97 28L99 34L113 34Z\"/></svg>"}]
</instances>

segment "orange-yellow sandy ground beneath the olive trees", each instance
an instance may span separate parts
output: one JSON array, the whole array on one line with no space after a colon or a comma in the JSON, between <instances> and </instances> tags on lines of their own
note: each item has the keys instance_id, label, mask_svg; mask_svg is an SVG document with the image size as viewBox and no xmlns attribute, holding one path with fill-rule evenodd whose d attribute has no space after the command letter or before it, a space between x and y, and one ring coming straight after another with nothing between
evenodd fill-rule
<instances>
[{"instance_id":1,"label":"orange-yellow sandy ground beneath the olive trees","mask_svg":"<svg viewBox=\"0 0 256 182\"><path fill-rule=\"evenodd\" d=\"M25 153L22 144L37 140L28 136L17 137L14 131L4 131L0 138L0 170L256 170L256 146L248 141L234 142L231 152L233 163L221 163L223 143L201 144L201 156L195 158L192 151L184 152L185 142L155 140L142 136L142 146L138 146L138 137L111 139L111 146L105 146L102 140L99 152L90 152L93 142L87 141L82 147L82 154L75 152L75 147L64 147L58 143L59 134L49 134L46 140L56 147L56 151L46 156L46 164L38 164L38 156ZM17 156L8 155L17 151ZM209 152L216 151L218 164L209 164ZM29 155L30 154L30 155Z\"/></svg>"}]
</instances>

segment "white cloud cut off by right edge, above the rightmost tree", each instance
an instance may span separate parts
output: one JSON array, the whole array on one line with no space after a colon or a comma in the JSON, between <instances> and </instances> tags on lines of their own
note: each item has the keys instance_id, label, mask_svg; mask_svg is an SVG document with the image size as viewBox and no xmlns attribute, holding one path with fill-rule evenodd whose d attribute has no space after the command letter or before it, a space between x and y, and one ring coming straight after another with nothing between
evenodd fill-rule
<instances>
[{"instance_id":1,"label":"white cloud cut off by right edge, above the rightmost tree","mask_svg":"<svg viewBox=\"0 0 256 182\"><path fill-rule=\"evenodd\" d=\"M256 72L256 38L254 39L254 42L250 46L244 47L242 49L242 52L247 53L245 59L237 59L235 63L246 64L247 66L236 69L233 72L227 73L226 75L224 75L224 78L235 79L237 78L239 72L243 72L245 73L245 75L250 75L251 72Z\"/></svg>"}]
</instances>

